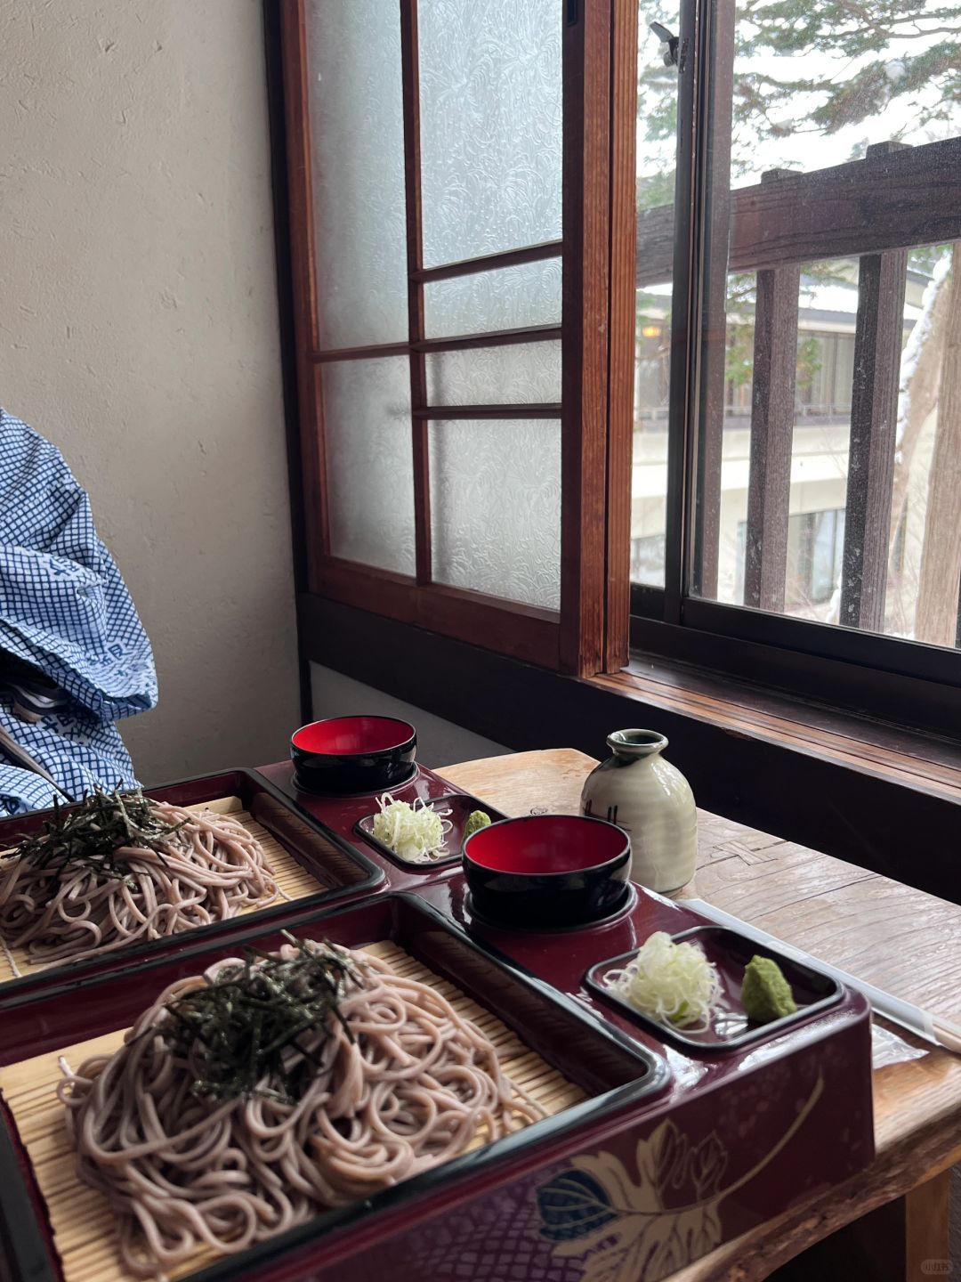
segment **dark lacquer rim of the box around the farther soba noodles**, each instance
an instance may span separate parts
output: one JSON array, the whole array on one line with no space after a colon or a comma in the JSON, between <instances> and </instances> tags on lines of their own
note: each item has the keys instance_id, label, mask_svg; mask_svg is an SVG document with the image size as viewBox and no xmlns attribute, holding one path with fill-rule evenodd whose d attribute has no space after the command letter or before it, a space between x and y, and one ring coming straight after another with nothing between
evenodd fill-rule
<instances>
[{"instance_id":1,"label":"dark lacquer rim of the box around the farther soba noodles","mask_svg":"<svg viewBox=\"0 0 961 1282\"><path fill-rule=\"evenodd\" d=\"M174 805L200 805L220 797L240 797L243 809L275 838L283 850L319 882L316 894L305 895L292 903L278 901L268 908L256 909L259 928L265 923L286 918L292 908L327 908L359 899L386 888L386 878L378 863L346 841L340 833L325 827L309 810L305 810L286 792L270 783L256 770L233 769L218 774L205 774L178 783L168 783L147 788L147 796L158 801L170 801ZM69 809L69 808L65 808ZM0 850L8 850L18 838L38 832L49 810L37 810L28 815L14 815L0 820ZM47 983L56 982L64 970L73 976L96 974L115 967L129 965L136 958L152 956L167 951L201 932L204 937L229 935L249 924L250 914L201 926L185 935L168 936L144 944L132 944L103 958L87 962L64 962L50 967L26 969L19 979L0 983L0 1009L8 999L23 992L32 992ZM264 923L264 924L260 924Z\"/></svg>"}]
</instances>

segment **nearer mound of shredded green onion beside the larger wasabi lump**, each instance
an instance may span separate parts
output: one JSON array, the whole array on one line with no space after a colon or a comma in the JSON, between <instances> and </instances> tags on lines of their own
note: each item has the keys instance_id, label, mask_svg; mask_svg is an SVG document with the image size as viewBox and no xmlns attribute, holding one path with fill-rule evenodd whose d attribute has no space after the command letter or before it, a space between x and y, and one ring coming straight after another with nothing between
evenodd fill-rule
<instances>
[{"instance_id":1,"label":"nearer mound of shredded green onion beside the larger wasabi lump","mask_svg":"<svg viewBox=\"0 0 961 1282\"><path fill-rule=\"evenodd\" d=\"M710 1027L720 1005L718 968L698 944L675 944L656 931L623 969L609 970L605 986L636 1010L689 1032Z\"/></svg>"}]
</instances>

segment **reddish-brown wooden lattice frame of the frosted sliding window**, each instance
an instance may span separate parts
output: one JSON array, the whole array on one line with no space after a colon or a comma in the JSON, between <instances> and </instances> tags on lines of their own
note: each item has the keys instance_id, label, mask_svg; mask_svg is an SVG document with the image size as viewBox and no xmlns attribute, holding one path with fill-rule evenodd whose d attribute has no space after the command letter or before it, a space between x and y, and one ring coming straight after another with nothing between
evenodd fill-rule
<instances>
[{"instance_id":1,"label":"reddish-brown wooden lattice frame of the frosted sliding window","mask_svg":"<svg viewBox=\"0 0 961 1282\"><path fill-rule=\"evenodd\" d=\"M284 0L281 6L302 524L308 544L304 587L309 594L386 614L450 637L482 640L483 645L505 655L575 676L592 674L611 664L623 663L628 645L629 494L625 477L629 478L629 465L624 476L620 469L624 467L624 458L629 459L629 412L621 413L616 444L620 462L616 468L609 460L609 455L612 456L616 450L611 450L607 418L612 332L620 338L615 370L620 379L625 377L627 356L627 327L623 319L619 326L611 326L611 9L607 3L597 0L568 0L564 6L563 238L429 269L424 268L422 260L416 0L400 0L400 13L407 203L407 341L322 350L318 344L315 224L310 188L306 0ZM619 145L625 146L627 140L620 137ZM559 254L563 262L560 326L442 340L424 336L423 287L429 281L511 267ZM625 277L624 272L620 273L621 308L625 306L627 297L624 278L632 282L633 292L633 264L625 267L630 274ZM630 303L633 306L633 297ZM633 336L633 323L629 332ZM561 341L560 405L428 404L424 367L427 353L548 338ZM343 560L331 551L325 504L328 464L320 390L323 369L334 359L386 355L405 355L410 360L415 576ZM633 364L633 349L629 360ZM560 418L561 422L559 612L432 582L429 420L548 417ZM615 490L620 491L620 517L611 523L607 520L607 506ZM609 605L611 601L615 603L614 610Z\"/></svg>"}]
</instances>

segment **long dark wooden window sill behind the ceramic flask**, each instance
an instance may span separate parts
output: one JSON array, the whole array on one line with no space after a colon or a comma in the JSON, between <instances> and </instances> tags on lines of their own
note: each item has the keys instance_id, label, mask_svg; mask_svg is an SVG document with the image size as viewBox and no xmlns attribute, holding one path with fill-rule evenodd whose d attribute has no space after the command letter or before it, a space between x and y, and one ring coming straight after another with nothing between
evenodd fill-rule
<instances>
[{"instance_id":1,"label":"long dark wooden window sill behind the ceramic flask","mask_svg":"<svg viewBox=\"0 0 961 1282\"><path fill-rule=\"evenodd\" d=\"M957 742L675 659L564 677L310 595L300 627L305 658L518 751L605 756L612 729L653 727L705 810L961 901Z\"/></svg>"}]
</instances>

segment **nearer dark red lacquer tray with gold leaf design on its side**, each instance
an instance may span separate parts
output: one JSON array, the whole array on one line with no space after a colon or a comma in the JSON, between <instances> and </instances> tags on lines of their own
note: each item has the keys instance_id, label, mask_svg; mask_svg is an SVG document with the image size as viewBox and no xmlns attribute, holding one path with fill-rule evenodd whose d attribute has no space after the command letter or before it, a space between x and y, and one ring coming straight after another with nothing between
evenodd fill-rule
<instances>
[{"instance_id":1,"label":"nearer dark red lacquer tray with gold leaf design on its side","mask_svg":"<svg viewBox=\"0 0 961 1282\"><path fill-rule=\"evenodd\" d=\"M598 959L629 951L653 929L697 924L683 906L637 891L615 919L588 929L491 929L472 918L459 876L333 914L291 913L284 927L301 936L397 940L592 1099L196 1277L655 1282L861 1170L874 1137L869 1008L860 994L842 988L826 1009L748 1047L682 1053L586 987ZM264 938L252 924L229 946L193 936L136 977L67 982L8 1006L0 1060L115 1028L142 1009L147 985L154 992L254 940L270 947L279 936ZM17 1277L58 1278L45 1231L26 1214L23 1153L15 1136L8 1141L0 1206L19 1235Z\"/></svg>"}]
</instances>

